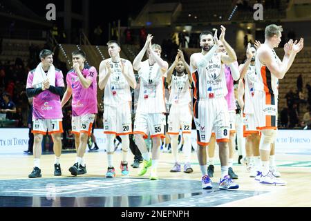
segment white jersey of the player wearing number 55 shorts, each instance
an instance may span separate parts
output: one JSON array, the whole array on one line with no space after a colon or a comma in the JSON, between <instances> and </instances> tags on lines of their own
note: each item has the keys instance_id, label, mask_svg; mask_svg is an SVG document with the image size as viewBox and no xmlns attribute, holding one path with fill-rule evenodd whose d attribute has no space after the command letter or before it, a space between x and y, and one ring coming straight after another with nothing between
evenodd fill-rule
<instances>
[{"instance_id":1,"label":"white jersey of the player wearing number 55 shorts","mask_svg":"<svg viewBox=\"0 0 311 221\"><path fill-rule=\"evenodd\" d=\"M140 70L140 95L136 113L164 113L164 77L160 66L143 61Z\"/></svg>"}]
</instances>

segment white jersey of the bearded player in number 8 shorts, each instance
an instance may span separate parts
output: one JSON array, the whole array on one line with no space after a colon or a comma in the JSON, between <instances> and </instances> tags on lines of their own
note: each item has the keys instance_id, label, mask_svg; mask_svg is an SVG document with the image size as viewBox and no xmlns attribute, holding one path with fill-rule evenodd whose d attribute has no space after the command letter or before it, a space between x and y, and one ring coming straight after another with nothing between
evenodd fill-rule
<instances>
[{"instance_id":1,"label":"white jersey of the bearded player in number 8 shorts","mask_svg":"<svg viewBox=\"0 0 311 221\"><path fill-rule=\"evenodd\" d=\"M203 55L197 53L196 56L202 57ZM220 54L215 53L206 68L197 68L192 74L192 78L194 79L194 97L196 99L225 97L228 93Z\"/></svg>"}]
</instances>

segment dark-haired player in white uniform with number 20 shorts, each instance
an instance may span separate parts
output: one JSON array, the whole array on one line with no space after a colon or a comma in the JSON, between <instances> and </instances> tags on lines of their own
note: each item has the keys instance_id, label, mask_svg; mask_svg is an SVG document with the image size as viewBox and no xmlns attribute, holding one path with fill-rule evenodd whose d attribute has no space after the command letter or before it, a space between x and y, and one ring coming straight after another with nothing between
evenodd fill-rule
<instances>
[{"instance_id":1,"label":"dark-haired player in white uniform with number 20 shorts","mask_svg":"<svg viewBox=\"0 0 311 221\"><path fill-rule=\"evenodd\" d=\"M135 88L136 80L131 61L120 57L120 43L108 41L109 59L100 63L100 90L104 89L104 134L106 134L108 158L107 178L115 177L113 167L113 140L120 136L122 140L122 175L129 175L127 153L129 150L129 134L132 133L131 121L131 88Z\"/></svg>"}]
</instances>

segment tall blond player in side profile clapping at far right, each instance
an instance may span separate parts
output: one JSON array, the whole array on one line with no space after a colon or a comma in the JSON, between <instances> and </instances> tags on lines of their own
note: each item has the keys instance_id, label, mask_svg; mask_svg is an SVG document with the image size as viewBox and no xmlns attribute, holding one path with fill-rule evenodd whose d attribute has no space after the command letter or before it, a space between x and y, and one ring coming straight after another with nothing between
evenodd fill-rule
<instances>
[{"instance_id":1,"label":"tall blond player in side profile clapping at far right","mask_svg":"<svg viewBox=\"0 0 311 221\"><path fill-rule=\"evenodd\" d=\"M303 39L300 41L288 41L284 46L285 55L283 61L279 59L273 48L277 48L281 41L281 26L274 24L265 28L265 43L258 48L255 57L256 75L255 82L254 113L261 130L261 141L259 151L261 155L261 184L285 185L286 183L276 178L269 168L269 155L271 144L274 143L277 128L277 102L279 79L283 79L287 73L296 54L303 48Z\"/></svg>"}]
</instances>

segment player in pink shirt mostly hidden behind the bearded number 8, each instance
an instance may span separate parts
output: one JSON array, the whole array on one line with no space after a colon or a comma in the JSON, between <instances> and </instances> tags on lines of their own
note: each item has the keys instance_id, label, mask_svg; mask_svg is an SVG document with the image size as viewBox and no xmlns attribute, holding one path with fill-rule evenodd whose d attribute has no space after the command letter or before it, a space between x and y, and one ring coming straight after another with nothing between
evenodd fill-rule
<instances>
[{"instance_id":1,"label":"player in pink shirt mostly hidden behind the bearded number 8","mask_svg":"<svg viewBox=\"0 0 311 221\"><path fill-rule=\"evenodd\" d=\"M217 52L225 53L226 50L223 46L223 43L221 41L218 44L218 50ZM228 93L225 96L225 99L227 101L228 105L228 111L229 111L229 123L230 123L230 133L229 133L229 169L228 174L232 179L238 179L238 175L234 173L232 166L233 166L233 157L234 157L234 148L236 144L235 140L235 133L236 133L236 99L234 97L234 81L238 80L240 78L240 73L238 72L238 62L234 61L233 63L226 65L223 64L223 71L225 72L225 78L226 78L226 86ZM214 133L213 133L214 135ZM215 135L214 135L215 136ZM214 138L214 137L213 137ZM213 144L211 144L214 142ZM207 175L211 174L210 177L213 177L214 173L214 152L215 152L215 139L212 139L211 142L209 142L209 166L207 168Z\"/></svg>"}]
</instances>

